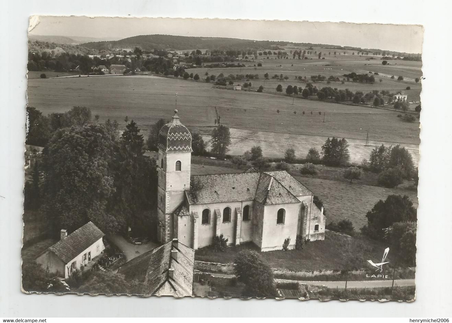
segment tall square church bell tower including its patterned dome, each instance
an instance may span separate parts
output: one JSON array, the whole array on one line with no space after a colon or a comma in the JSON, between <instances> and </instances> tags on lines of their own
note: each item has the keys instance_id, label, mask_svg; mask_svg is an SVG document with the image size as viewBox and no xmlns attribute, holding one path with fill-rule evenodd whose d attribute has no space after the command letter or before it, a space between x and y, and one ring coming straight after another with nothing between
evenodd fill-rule
<instances>
[{"instance_id":1,"label":"tall square church bell tower including its patterned dome","mask_svg":"<svg viewBox=\"0 0 452 323\"><path fill-rule=\"evenodd\" d=\"M157 238L165 243L174 237L173 211L183 201L190 188L192 135L180 123L177 110L170 123L159 132Z\"/></svg>"}]
</instances>

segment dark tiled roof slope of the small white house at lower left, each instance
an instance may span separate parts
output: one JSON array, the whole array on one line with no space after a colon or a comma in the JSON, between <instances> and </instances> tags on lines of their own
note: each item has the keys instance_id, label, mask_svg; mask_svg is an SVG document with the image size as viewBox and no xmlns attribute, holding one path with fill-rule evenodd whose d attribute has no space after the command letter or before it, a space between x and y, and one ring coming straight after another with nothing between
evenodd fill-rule
<instances>
[{"instance_id":1,"label":"dark tiled roof slope of the small white house at lower left","mask_svg":"<svg viewBox=\"0 0 452 323\"><path fill-rule=\"evenodd\" d=\"M104 237L104 233L94 223L88 222L49 247L49 250L67 264L101 237Z\"/></svg>"}]
</instances>

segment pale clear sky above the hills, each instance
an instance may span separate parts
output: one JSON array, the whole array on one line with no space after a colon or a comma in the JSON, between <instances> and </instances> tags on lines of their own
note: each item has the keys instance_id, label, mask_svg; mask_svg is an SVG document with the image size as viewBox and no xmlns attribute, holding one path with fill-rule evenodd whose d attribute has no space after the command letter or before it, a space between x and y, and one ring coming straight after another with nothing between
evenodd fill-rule
<instances>
[{"instance_id":1,"label":"pale clear sky above the hills","mask_svg":"<svg viewBox=\"0 0 452 323\"><path fill-rule=\"evenodd\" d=\"M119 18L85 16L32 16L33 35L111 38L147 34L228 37L294 43L378 48L396 52L422 52L419 25L293 22L278 20Z\"/></svg>"}]
</instances>

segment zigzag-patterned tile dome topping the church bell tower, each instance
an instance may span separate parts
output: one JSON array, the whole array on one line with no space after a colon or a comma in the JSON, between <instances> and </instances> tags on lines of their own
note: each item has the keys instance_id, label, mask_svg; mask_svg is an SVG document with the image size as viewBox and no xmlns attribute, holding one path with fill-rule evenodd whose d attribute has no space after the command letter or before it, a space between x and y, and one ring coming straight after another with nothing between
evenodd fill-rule
<instances>
[{"instance_id":1,"label":"zigzag-patterned tile dome topping the church bell tower","mask_svg":"<svg viewBox=\"0 0 452 323\"><path fill-rule=\"evenodd\" d=\"M174 110L171 122L160 129L158 147L165 152L192 152L192 135L180 123L177 110Z\"/></svg>"}]
</instances>

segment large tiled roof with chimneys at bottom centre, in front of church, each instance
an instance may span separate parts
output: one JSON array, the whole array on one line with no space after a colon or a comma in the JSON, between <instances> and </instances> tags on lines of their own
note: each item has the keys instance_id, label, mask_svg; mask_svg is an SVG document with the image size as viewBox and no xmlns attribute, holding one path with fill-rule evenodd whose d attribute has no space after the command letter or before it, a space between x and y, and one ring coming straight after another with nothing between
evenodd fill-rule
<instances>
[{"instance_id":1,"label":"large tiled roof with chimneys at bottom centre, in front of church","mask_svg":"<svg viewBox=\"0 0 452 323\"><path fill-rule=\"evenodd\" d=\"M194 250L173 241L152 249L124 264L118 274L137 280L149 295L191 296L193 292ZM171 256L177 250L177 260ZM173 269L173 278L169 268Z\"/></svg>"}]
</instances>

